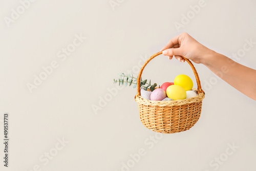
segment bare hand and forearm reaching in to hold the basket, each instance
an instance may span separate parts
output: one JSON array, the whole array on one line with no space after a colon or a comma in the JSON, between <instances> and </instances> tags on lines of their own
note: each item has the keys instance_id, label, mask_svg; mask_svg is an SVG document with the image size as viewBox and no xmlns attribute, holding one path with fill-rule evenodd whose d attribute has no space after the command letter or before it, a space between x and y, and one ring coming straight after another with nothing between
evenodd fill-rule
<instances>
[{"instance_id":1,"label":"bare hand and forearm reaching in to hold the basket","mask_svg":"<svg viewBox=\"0 0 256 171\"><path fill-rule=\"evenodd\" d=\"M252 79L256 78L255 69L243 66L227 56L208 49L187 33L181 33L170 39L162 50L163 55L169 56L169 59L175 56L176 59L184 62L183 56L195 63L202 63L230 86L256 100L256 79Z\"/></svg>"}]
</instances>

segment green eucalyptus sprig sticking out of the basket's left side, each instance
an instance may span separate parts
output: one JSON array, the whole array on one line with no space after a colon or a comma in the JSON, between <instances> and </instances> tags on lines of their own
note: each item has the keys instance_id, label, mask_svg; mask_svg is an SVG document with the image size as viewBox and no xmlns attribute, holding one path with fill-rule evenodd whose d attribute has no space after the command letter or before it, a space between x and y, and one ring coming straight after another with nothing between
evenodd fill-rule
<instances>
[{"instance_id":1,"label":"green eucalyptus sprig sticking out of the basket's left side","mask_svg":"<svg viewBox=\"0 0 256 171\"><path fill-rule=\"evenodd\" d=\"M134 84L133 88L137 87L137 78L134 77L133 74L125 75L124 73L118 74L118 79L114 79L114 83L119 83L119 86L124 85L125 87L127 85L131 86ZM149 83L147 83L147 79L142 80L142 77L140 78L140 88L143 87L144 90L150 89L150 91L155 90L157 87L157 83L151 84L151 80Z\"/></svg>"}]
</instances>

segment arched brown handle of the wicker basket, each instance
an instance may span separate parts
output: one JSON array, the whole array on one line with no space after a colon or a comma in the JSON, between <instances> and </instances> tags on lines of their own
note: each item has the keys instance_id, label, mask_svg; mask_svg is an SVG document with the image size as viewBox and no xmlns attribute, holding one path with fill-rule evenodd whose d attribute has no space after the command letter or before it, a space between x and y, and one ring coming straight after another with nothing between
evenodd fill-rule
<instances>
[{"instance_id":1,"label":"arched brown handle of the wicker basket","mask_svg":"<svg viewBox=\"0 0 256 171\"><path fill-rule=\"evenodd\" d=\"M155 53L154 55L152 55L150 58L148 58L145 63L143 64L143 66L141 67L140 69L140 72L139 72L139 75L138 75L138 78L137 78L137 94L135 97L139 96L140 95L140 78L141 78L141 74L142 74L142 71L144 70L145 66L147 65L148 62L150 62L153 58L155 58L156 56L162 54L162 51L161 52L158 52L158 53ZM196 80L197 80L197 90L198 90L198 93L201 93L204 91L202 90L201 88L201 82L200 82L200 79L199 79L199 76L198 76L198 73L197 73L197 70L195 69L193 63L191 63L191 61L187 58L184 58L187 61L187 63L190 65L190 67L192 68L193 72L194 72L194 75L196 77Z\"/></svg>"}]
</instances>

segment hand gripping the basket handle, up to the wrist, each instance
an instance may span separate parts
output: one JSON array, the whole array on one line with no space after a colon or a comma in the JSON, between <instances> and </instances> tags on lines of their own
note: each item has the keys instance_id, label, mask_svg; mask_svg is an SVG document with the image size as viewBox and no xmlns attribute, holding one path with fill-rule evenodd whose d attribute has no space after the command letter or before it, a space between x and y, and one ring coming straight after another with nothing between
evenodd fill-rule
<instances>
[{"instance_id":1,"label":"hand gripping the basket handle, up to the wrist","mask_svg":"<svg viewBox=\"0 0 256 171\"><path fill-rule=\"evenodd\" d=\"M175 56L176 59L184 62L183 56L195 63L205 63L207 58L214 53L214 51L206 48L187 33L181 33L170 39L161 51L163 51L163 55L169 56L169 59Z\"/></svg>"}]
</instances>

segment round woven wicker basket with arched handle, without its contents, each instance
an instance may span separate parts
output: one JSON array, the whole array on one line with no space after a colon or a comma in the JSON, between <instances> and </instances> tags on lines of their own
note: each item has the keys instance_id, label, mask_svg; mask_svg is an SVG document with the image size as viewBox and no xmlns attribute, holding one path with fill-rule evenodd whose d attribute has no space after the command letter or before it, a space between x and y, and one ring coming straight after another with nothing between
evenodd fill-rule
<instances>
[{"instance_id":1,"label":"round woven wicker basket with arched handle, without its contents","mask_svg":"<svg viewBox=\"0 0 256 171\"><path fill-rule=\"evenodd\" d=\"M202 109L202 100L204 99L204 91L197 71L189 59L184 58L192 68L197 80L196 97L183 100L155 101L147 100L140 96L140 78L143 69L154 57L162 54L158 52L148 58L140 69L137 79L137 94L135 101L139 104L140 120L147 129L152 131L172 134L189 130L197 123Z\"/></svg>"}]
</instances>

